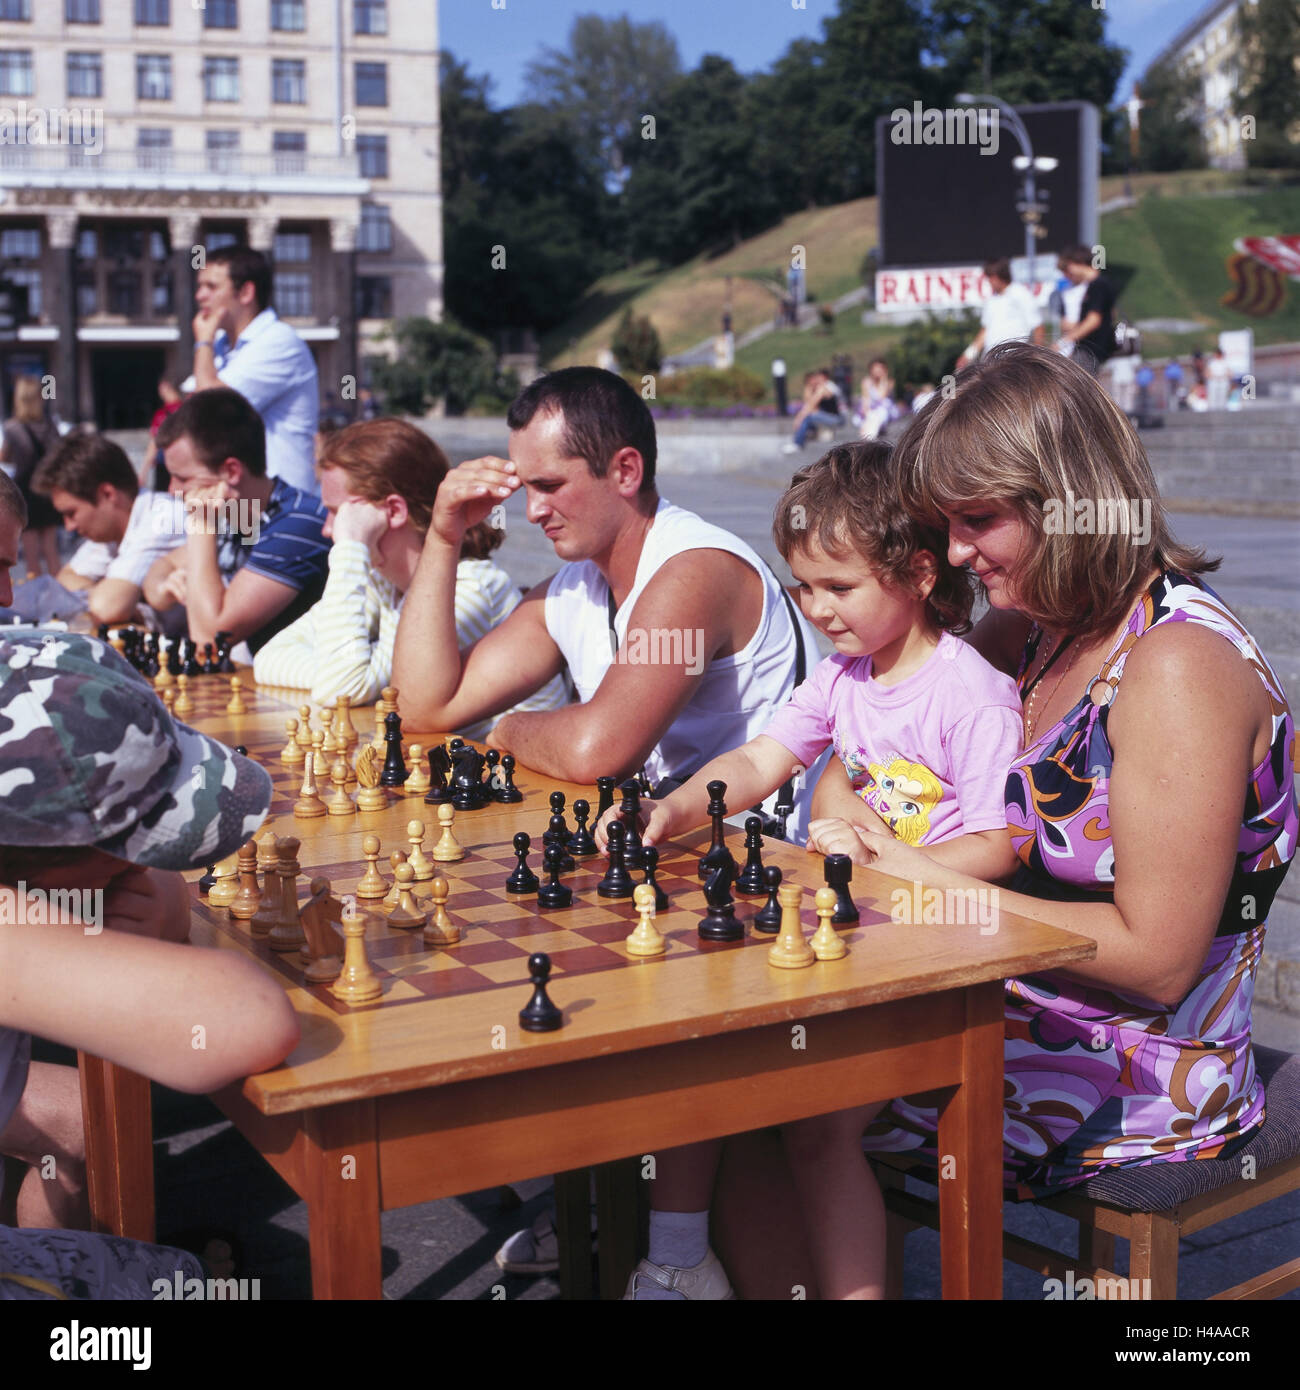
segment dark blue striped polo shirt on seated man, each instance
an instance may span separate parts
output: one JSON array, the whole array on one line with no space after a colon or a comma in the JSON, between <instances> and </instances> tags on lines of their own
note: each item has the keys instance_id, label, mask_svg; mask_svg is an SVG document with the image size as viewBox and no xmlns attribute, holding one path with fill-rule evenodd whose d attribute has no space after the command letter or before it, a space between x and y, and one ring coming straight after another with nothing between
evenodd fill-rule
<instances>
[{"instance_id":1,"label":"dark blue striped polo shirt on seated man","mask_svg":"<svg viewBox=\"0 0 1300 1390\"><path fill-rule=\"evenodd\" d=\"M217 567L224 582L229 584L246 566L253 574L296 589L288 607L247 639L250 651L256 652L306 613L324 592L330 573L330 542L321 535L324 524L325 509L318 496L273 478L271 500L261 513L256 543L245 545L229 531L218 538Z\"/></svg>"}]
</instances>

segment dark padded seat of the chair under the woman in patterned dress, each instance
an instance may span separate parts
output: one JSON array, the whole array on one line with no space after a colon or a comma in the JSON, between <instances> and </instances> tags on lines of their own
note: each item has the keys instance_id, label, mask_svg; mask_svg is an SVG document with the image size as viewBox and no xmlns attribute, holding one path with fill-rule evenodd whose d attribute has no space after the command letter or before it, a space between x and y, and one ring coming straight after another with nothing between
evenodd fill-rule
<instances>
[{"instance_id":1,"label":"dark padded seat of the chair under the woman in patterned dress","mask_svg":"<svg viewBox=\"0 0 1300 1390\"><path fill-rule=\"evenodd\" d=\"M1072 1195L1128 1211L1164 1212L1237 1182L1244 1158L1254 1159L1257 1175L1300 1158L1300 1056L1256 1045L1256 1070L1264 1083L1264 1123L1230 1158L1108 1168Z\"/></svg>"}]
</instances>

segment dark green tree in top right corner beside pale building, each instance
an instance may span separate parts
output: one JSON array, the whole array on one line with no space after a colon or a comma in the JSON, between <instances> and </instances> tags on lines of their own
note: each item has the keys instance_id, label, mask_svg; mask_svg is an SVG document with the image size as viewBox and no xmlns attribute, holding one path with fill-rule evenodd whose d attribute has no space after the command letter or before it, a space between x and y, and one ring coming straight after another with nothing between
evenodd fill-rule
<instances>
[{"instance_id":1,"label":"dark green tree in top right corner beside pale building","mask_svg":"<svg viewBox=\"0 0 1300 1390\"><path fill-rule=\"evenodd\" d=\"M1242 88L1237 115L1253 117L1243 140L1256 168L1300 167L1300 0L1242 6Z\"/></svg>"}]
</instances>

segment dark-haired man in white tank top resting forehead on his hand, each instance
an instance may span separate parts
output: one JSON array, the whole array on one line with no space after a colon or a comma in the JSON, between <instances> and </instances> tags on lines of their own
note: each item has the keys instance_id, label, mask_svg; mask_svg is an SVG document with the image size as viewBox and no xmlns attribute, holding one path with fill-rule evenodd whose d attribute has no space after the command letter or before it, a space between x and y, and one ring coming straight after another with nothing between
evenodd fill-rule
<instances>
[{"instance_id":1,"label":"dark-haired man in white tank top resting forehead on his hand","mask_svg":"<svg viewBox=\"0 0 1300 1390\"><path fill-rule=\"evenodd\" d=\"M802 670L816 662L812 631L744 541L659 498L655 423L635 391L569 367L526 388L507 423L509 460L463 463L438 488L393 653L410 720L471 724L567 667L580 703L507 714L489 746L564 781L644 767L656 784L762 733L797 682L797 634ZM566 563L462 660L462 537L520 489ZM791 838L813 785L815 771L797 778Z\"/></svg>"}]
</instances>

